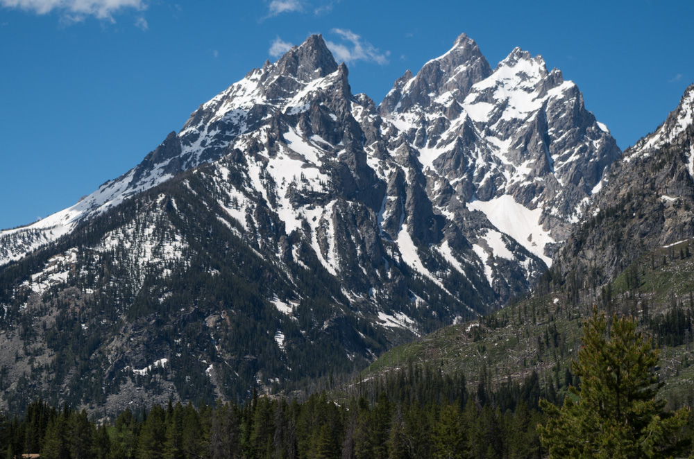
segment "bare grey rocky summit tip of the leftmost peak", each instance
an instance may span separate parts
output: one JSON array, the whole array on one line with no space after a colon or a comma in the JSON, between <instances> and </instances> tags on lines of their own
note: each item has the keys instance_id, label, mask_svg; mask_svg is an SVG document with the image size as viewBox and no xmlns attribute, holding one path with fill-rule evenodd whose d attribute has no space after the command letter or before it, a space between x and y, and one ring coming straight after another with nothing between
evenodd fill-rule
<instances>
[{"instance_id":1,"label":"bare grey rocky summit tip of the leftmost peak","mask_svg":"<svg viewBox=\"0 0 694 459\"><path fill-rule=\"evenodd\" d=\"M294 46L276 62L283 75L295 75L299 80L323 78L337 70L337 62L323 40L323 35L311 35L300 46Z\"/></svg>"}]
</instances>

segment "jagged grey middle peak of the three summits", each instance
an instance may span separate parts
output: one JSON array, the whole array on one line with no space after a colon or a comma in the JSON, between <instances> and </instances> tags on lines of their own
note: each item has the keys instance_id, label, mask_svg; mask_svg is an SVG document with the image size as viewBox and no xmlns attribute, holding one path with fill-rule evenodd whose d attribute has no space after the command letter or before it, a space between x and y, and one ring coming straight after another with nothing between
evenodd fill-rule
<instances>
[{"instance_id":1,"label":"jagged grey middle peak of the three summits","mask_svg":"<svg viewBox=\"0 0 694 459\"><path fill-rule=\"evenodd\" d=\"M414 78L409 70L400 77L380 104L380 112L387 115L429 107L446 93L462 103L472 85L490 73L480 47L463 33L448 52L424 64Z\"/></svg>"}]
</instances>

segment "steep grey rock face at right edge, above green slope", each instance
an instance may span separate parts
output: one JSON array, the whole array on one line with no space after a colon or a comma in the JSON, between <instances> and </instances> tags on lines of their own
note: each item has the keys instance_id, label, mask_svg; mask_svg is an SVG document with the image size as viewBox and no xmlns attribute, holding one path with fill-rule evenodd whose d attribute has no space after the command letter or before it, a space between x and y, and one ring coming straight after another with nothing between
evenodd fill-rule
<instances>
[{"instance_id":1,"label":"steep grey rock face at right edge, above green slope","mask_svg":"<svg viewBox=\"0 0 694 459\"><path fill-rule=\"evenodd\" d=\"M592 267L604 282L645 251L694 237L694 85L598 187L561 251L564 268Z\"/></svg>"}]
</instances>

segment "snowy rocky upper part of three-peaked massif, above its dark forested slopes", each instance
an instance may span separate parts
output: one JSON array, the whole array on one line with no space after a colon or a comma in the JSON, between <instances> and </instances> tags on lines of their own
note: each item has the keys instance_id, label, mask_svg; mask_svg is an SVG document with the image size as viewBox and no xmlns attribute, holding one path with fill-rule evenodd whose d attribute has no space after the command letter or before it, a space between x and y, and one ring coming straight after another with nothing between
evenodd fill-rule
<instances>
[{"instance_id":1,"label":"snowy rocky upper part of three-peaked massif, above its dark forested slopes","mask_svg":"<svg viewBox=\"0 0 694 459\"><path fill-rule=\"evenodd\" d=\"M239 150L248 162L247 191L269 203L287 236L304 222L325 221L311 245L333 275L348 266L334 242L339 189L376 214L380 236L421 275L439 282L436 263L417 253L432 250L456 260L450 266L461 275L485 272L504 298L527 289L551 263L619 154L577 87L521 49L492 70L461 35L416 76L405 73L378 107L351 95L347 75L322 38L310 37L201 105L133 170L69 209L1 232L0 264ZM497 232L508 242L490 243L487 235Z\"/></svg>"}]
</instances>

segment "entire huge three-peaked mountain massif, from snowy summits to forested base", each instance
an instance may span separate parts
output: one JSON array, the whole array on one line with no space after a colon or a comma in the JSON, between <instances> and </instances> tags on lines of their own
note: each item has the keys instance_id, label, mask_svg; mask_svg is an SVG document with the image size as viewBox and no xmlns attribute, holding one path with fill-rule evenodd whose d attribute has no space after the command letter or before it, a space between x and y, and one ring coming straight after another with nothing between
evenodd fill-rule
<instances>
[{"instance_id":1,"label":"entire huge three-peaked mountain massif, from snowy summits to forested base","mask_svg":"<svg viewBox=\"0 0 694 459\"><path fill-rule=\"evenodd\" d=\"M128 173L0 233L0 390L122 409L364 367L521 295L620 154L577 87L473 40L353 95L320 35Z\"/></svg>"}]
</instances>

